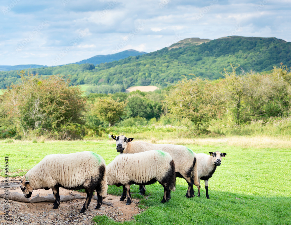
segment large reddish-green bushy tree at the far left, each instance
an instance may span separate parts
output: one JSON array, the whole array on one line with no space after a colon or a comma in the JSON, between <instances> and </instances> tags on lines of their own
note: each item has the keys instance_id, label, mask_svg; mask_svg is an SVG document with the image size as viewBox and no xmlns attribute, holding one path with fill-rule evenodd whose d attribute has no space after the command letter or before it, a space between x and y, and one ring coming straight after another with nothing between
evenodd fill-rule
<instances>
[{"instance_id":1,"label":"large reddish-green bushy tree at the far left","mask_svg":"<svg viewBox=\"0 0 291 225\"><path fill-rule=\"evenodd\" d=\"M1 96L0 121L13 124L24 136L34 129L62 133L65 126L84 124L86 101L78 87L59 76L47 79L20 73L21 84L11 85Z\"/></svg>"}]
</instances>

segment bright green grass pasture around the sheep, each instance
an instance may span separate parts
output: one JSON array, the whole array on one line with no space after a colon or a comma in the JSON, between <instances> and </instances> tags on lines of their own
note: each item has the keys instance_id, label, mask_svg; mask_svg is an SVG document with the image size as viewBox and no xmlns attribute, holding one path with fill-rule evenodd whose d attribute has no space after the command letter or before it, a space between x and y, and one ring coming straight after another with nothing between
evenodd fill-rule
<instances>
[{"instance_id":1,"label":"bright green grass pasture around the sheep","mask_svg":"<svg viewBox=\"0 0 291 225\"><path fill-rule=\"evenodd\" d=\"M140 139L141 135L125 134ZM145 196L139 187L131 186L132 198L139 198L146 209L133 221L123 224L291 224L291 141L275 137L228 137L193 139L148 139L152 143L185 145L196 153L227 153L209 180L209 196L205 198L201 180L201 197L184 198L187 183L177 178L176 191L162 204L163 187L146 186ZM134 141L135 141L134 140ZM109 164L119 153L111 138L90 141L0 141L0 175L4 157L9 157L9 173L21 176L47 154L93 151ZM48 191L49 192L49 191ZM110 186L109 194L120 198L122 187ZM106 216L94 217L97 224L120 224Z\"/></svg>"}]
</instances>

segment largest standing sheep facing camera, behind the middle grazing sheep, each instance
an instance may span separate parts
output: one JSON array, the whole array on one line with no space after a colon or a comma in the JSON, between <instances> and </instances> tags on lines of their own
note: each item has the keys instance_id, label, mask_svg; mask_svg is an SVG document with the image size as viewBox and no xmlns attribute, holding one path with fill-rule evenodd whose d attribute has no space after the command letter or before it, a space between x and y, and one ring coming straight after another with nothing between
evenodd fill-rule
<instances>
[{"instance_id":1,"label":"largest standing sheep facing camera, behind the middle grazing sheep","mask_svg":"<svg viewBox=\"0 0 291 225\"><path fill-rule=\"evenodd\" d=\"M162 150L168 152L173 157L176 168L176 177L182 177L188 184L187 193L184 197L194 197L193 184L199 186L197 181L197 165L196 154L189 148L182 145L170 145L170 144L151 144L143 141L132 142L134 138L127 138L125 136L111 135L113 140L116 140L116 150L122 153L136 153L145 152L149 150ZM145 193L145 186L141 185L140 194ZM171 193L171 191L170 191ZM171 198L171 194L169 196Z\"/></svg>"}]
</instances>

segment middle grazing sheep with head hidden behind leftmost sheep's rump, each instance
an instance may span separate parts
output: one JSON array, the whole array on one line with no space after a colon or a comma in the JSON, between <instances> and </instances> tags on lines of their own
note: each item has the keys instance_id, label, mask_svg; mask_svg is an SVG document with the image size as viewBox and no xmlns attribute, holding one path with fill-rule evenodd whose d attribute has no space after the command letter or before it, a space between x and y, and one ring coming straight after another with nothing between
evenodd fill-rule
<instances>
[{"instance_id":1,"label":"middle grazing sheep with head hidden behind leftmost sheep's rump","mask_svg":"<svg viewBox=\"0 0 291 225\"><path fill-rule=\"evenodd\" d=\"M159 182L164 187L162 203L169 200L170 190L175 191L175 164L167 152L152 150L136 154L120 154L106 167L108 185L122 185L120 201L126 198L130 205L130 185L148 185ZM170 189L170 190L169 190Z\"/></svg>"}]
</instances>

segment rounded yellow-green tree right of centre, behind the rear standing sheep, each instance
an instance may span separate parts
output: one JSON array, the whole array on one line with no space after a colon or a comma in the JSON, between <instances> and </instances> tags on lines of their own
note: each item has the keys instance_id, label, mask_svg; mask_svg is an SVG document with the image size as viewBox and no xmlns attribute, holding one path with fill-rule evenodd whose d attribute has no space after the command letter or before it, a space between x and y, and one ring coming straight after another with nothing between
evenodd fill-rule
<instances>
[{"instance_id":1,"label":"rounded yellow-green tree right of centre, behind the rear standing sheep","mask_svg":"<svg viewBox=\"0 0 291 225\"><path fill-rule=\"evenodd\" d=\"M221 110L221 100L215 86L198 78L184 78L166 96L165 106L176 118L188 118L197 131L206 130L211 119Z\"/></svg>"}]
</instances>

